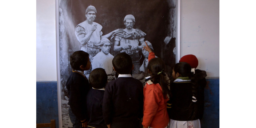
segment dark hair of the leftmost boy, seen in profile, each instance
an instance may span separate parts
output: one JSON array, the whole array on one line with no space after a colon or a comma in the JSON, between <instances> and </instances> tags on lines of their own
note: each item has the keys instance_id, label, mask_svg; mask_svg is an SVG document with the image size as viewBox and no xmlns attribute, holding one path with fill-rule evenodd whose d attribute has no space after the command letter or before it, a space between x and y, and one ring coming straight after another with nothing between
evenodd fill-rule
<instances>
[{"instance_id":1,"label":"dark hair of the leftmost boy, seen in profile","mask_svg":"<svg viewBox=\"0 0 256 128\"><path fill-rule=\"evenodd\" d=\"M86 66L89 54L84 51L75 51L69 58L70 65L74 70L81 70L80 66Z\"/></svg>"}]
</instances>

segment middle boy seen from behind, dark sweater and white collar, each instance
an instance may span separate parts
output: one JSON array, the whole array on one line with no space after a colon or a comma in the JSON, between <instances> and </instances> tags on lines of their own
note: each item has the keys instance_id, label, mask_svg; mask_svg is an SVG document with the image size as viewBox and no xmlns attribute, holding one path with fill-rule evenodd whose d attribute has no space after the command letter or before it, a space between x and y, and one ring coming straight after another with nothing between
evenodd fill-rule
<instances>
[{"instance_id":1,"label":"middle boy seen from behind, dark sweater and white collar","mask_svg":"<svg viewBox=\"0 0 256 128\"><path fill-rule=\"evenodd\" d=\"M103 97L103 118L108 128L138 128L143 117L143 86L132 77L132 59L126 53L112 60L118 78L107 83Z\"/></svg>"}]
</instances>

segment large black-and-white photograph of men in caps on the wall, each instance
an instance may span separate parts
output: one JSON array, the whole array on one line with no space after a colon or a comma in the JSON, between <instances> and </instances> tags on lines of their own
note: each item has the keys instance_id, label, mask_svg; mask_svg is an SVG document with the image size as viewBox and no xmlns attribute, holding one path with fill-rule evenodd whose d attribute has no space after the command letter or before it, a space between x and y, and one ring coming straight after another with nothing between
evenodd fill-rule
<instances>
[{"instance_id":1,"label":"large black-and-white photograph of men in caps on the wall","mask_svg":"<svg viewBox=\"0 0 256 128\"><path fill-rule=\"evenodd\" d=\"M170 76L179 58L178 0L56 0L57 81L59 118L72 127L68 116L66 80L72 72L69 56L75 51L90 55L90 71L102 67L115 79L113 57L126 52L133 60L132 76L145 82L148 53L145 41L164 60Z\"/></svg>"}]
</instances>

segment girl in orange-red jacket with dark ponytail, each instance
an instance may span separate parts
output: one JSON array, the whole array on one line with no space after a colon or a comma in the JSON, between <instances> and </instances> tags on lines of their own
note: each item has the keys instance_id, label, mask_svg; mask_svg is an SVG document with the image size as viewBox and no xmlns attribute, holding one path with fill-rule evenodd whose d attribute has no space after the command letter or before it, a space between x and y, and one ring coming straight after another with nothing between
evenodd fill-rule
<instances>
[{"instance_id":1,"label":"girl in orange-red jacket with dark ponytail","mask_svg":"<svg viewBox=\"0 0 256 128\"><path fill-rule=\"evenodd\" d=\"M143 128L167 128L169 116L167 101L170 95L170 80L164 73L165 63L160 58L153 58L148 64L148 80L143 88Z\"/></svg>"}]
</instances>

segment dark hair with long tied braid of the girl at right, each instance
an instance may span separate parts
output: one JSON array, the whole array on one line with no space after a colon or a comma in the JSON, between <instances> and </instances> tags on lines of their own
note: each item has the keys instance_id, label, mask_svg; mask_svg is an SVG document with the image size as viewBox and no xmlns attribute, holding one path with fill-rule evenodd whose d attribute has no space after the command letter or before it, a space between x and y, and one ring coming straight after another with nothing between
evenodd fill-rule
<instances>
[{"instance_id":1,"label":"dark hair with long tied braid of the girl at right","mask_svg":"<svg viewBox=\"0 0 256 128\"><path fill-rule=\"evenodd\" d=\"M195 81L195 77L193 75L193 72L191 72L191 66L190 64L186 63L186 62L180 62L175 64L175 66L173 67L173 70L175 73L179 72L181 77L189 77L191 79L191 83L192 83L192 96L194 96L195 98L192 98L192 101L194 100L196 102L196 98L197 98L197 93L198 93L198 84ZM197 104L195 102L192 102L190 104L190 107L193 107L194 110L191 111L191 115L192 118L194 118L196 116L196 112L197 112Z\"/></svg>"}]
</instances>

